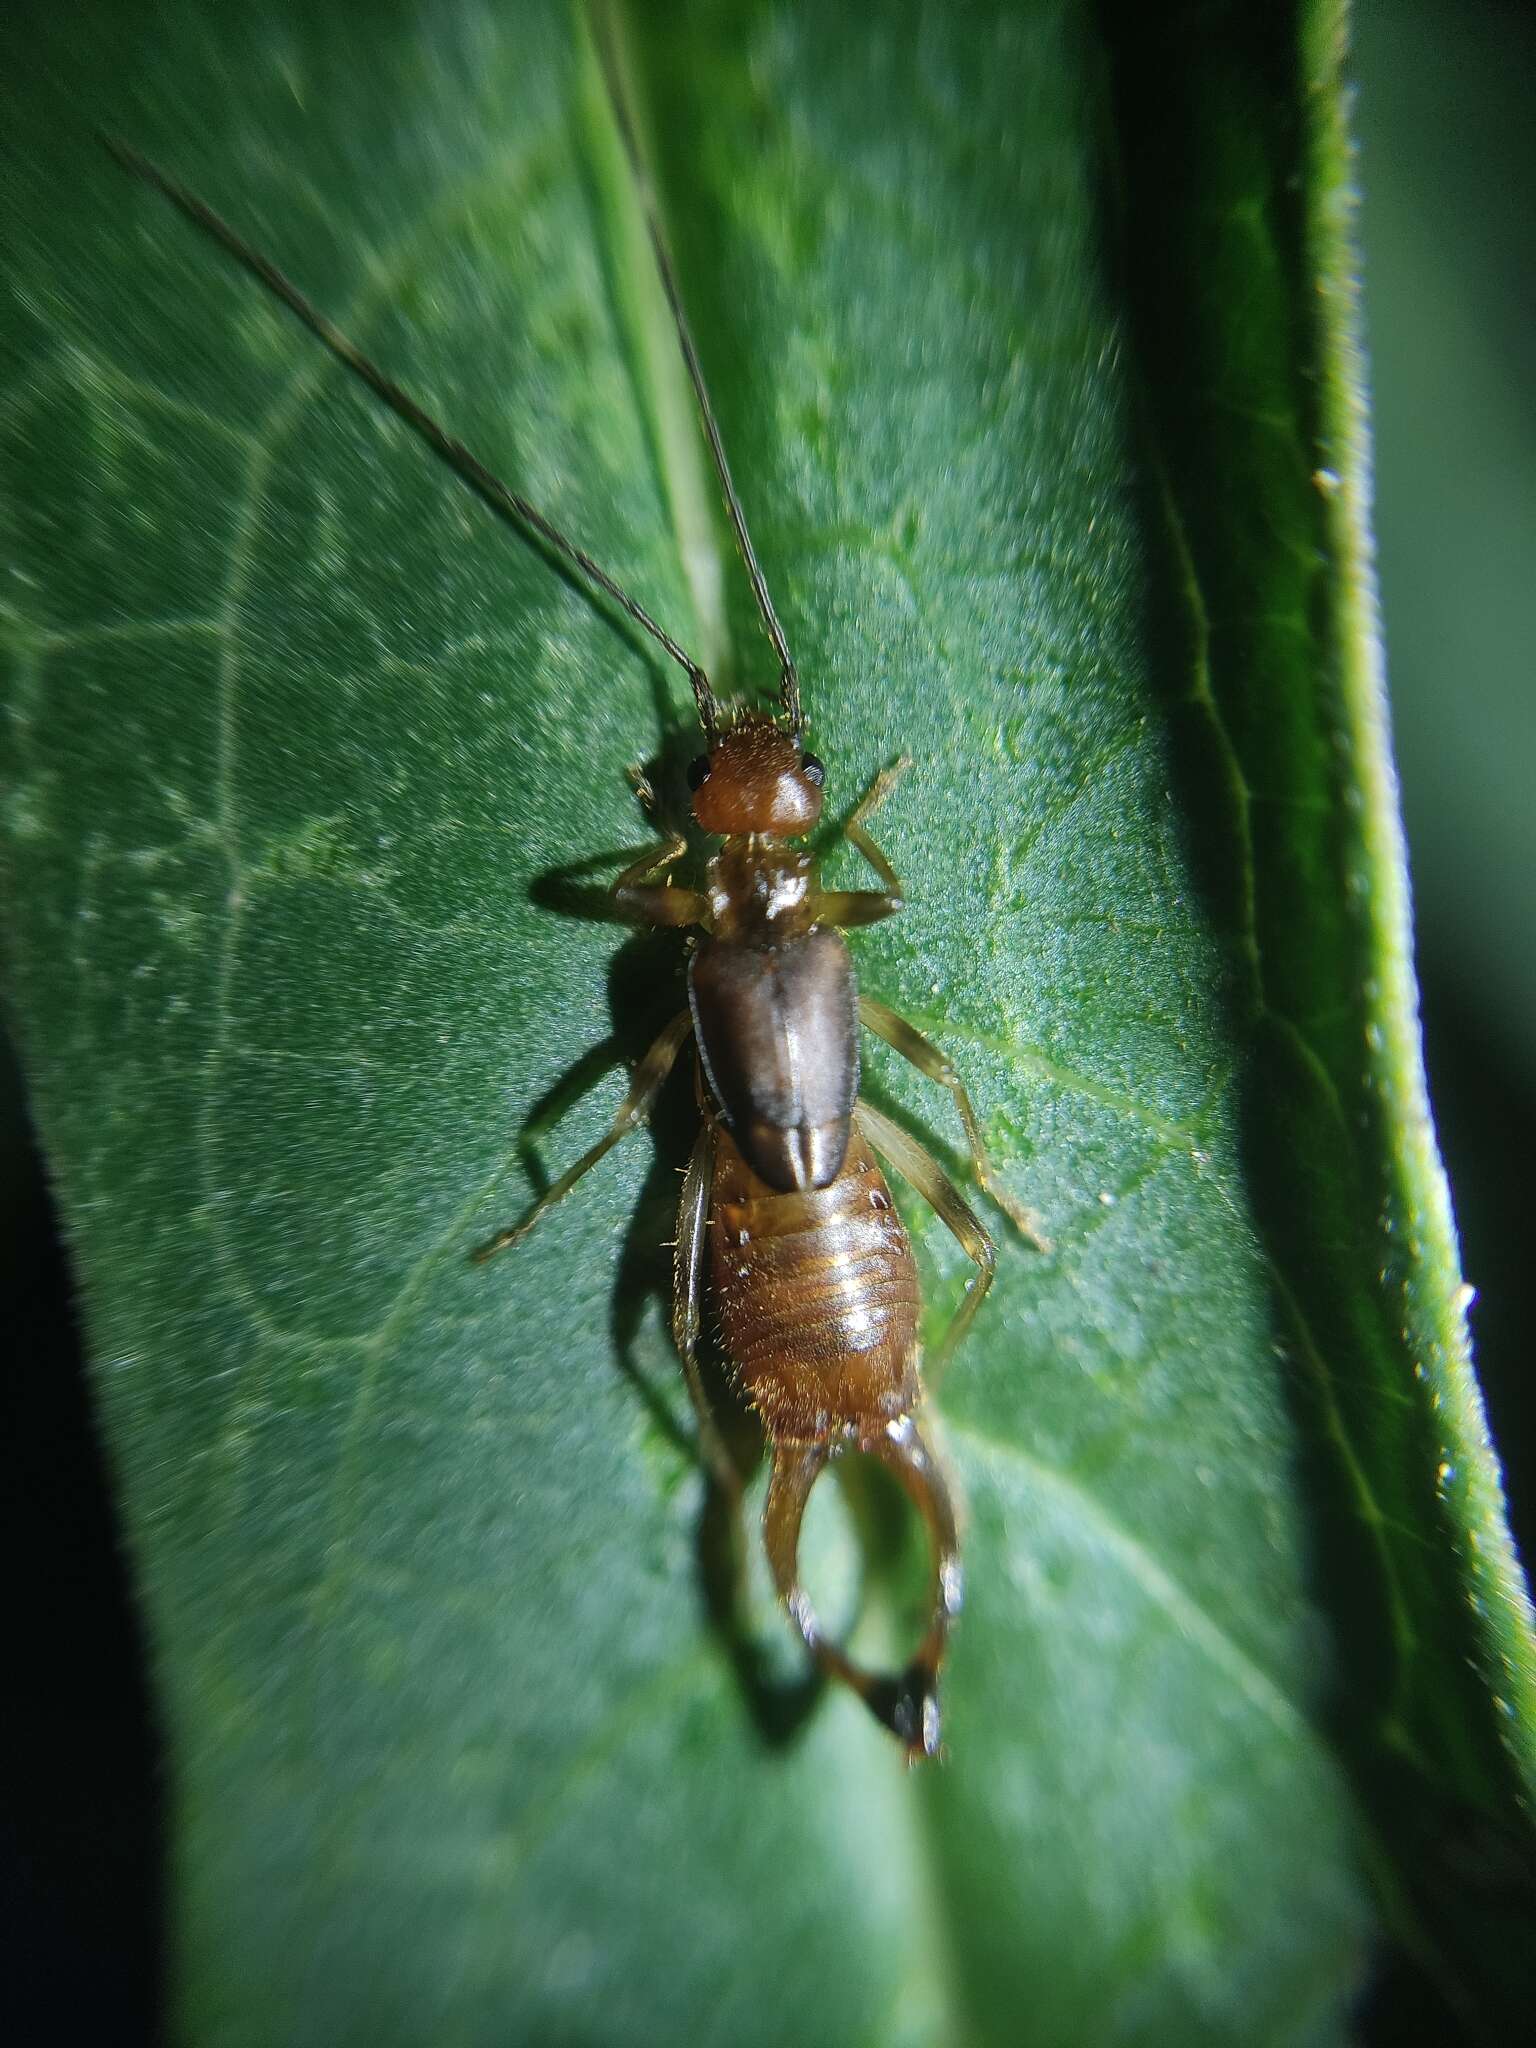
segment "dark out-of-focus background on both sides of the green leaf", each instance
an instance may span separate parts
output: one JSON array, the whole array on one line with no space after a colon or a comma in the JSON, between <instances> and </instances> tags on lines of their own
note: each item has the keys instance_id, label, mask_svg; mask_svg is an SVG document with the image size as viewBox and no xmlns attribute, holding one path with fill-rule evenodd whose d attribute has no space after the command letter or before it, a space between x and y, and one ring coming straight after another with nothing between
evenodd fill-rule
<instances>
[{"instance_id":1,"label":"dark out-of-focus background on both sides of the green leaf","mask_svg":"<svg viewBox=\"0 0 1536 2048\"><path fill-rule=\"evenodd\" d=\"M1536 29L1505 0L1362 0L1356 133L1376 539L1425 1061L1516 1538L1536 1546ZM160 1737L111 1475L20 1085L0 1047L0 1298L16 1370L0 2013L18 2042L150 2042ZM66 2019L63 2015L74 2015ZM1415 1991L1366 2015L1405 2040ZM76 2032L80 2030L80 2032Z\"/></svg>"}]
</instances>

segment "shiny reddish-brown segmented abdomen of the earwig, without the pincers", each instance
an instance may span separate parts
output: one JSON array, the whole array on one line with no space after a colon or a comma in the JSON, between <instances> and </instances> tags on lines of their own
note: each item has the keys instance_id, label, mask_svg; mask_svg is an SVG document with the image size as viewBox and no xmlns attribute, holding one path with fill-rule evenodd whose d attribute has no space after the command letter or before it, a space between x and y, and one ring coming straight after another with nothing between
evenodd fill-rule
<instances>
[{"instance_id":1,"label":"shiny reddish-brown segmented abdomen of the earwig, without the pincers","mask_svg":"<svg viewBox=\"0 0 1536 2048\"><path fill-rule=\"evenodd\" d=\"M864 1434L913 1407L918 1270L858 1126L838 1178L803 1194L717 1128L709 1235L725 1352L774 1438Z\"/></svg>"}]
</instances>

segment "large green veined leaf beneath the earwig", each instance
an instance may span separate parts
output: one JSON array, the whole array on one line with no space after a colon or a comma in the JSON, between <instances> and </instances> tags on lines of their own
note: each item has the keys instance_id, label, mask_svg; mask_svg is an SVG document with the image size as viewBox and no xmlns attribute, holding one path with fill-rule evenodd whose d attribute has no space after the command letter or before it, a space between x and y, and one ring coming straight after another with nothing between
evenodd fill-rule
<instances>
[{"instance_id":1,"label":"large green veined leaf beneath the earwig","mask_svg":"<svg viewBox=\"0 0 1536 2048\"><path fill-rule=\"evenodd\" d=\"M770 686L586 29L27 39L8 975L186 2038L1327 2042L1378 1917L1507 2032L1536 1655L1419 1071L1331 8L625 25L838 815L915 758L860 973L1055 1245L993 1214L938 1401L969 1606L922 1774L797 1692L760 1587L756 1659L711 1622L686 1087L467 1264L530 1114L573 1157L621 1083L563 1075L678 1004L676 948L559 870L643 838L625 766L694 750L682 678L90 139ZM948 1104L868 1075L958 1171ZM907 1208L938 1329L965 1262ZM879 1581L850 1499L827 1583Z\"/></svg>"}]
</instances>

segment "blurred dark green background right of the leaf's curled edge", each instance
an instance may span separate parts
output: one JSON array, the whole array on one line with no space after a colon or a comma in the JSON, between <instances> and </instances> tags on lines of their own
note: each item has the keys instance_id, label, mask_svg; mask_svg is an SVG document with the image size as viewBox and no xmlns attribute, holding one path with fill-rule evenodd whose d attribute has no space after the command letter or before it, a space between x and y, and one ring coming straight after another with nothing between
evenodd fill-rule
<instances>
[{"instance_id":1,"label":"blurred dark green background right of the leaf's curled edge","mask_svg":"<svg viewBox=\"0 0 1536 2048\"><path fill-rule=\"evenodd\" d=\"M1536 27L1362 0L1376 545L1430 1098L1516 1540L1536 1554Z\"/></svg>"}]
</instances>

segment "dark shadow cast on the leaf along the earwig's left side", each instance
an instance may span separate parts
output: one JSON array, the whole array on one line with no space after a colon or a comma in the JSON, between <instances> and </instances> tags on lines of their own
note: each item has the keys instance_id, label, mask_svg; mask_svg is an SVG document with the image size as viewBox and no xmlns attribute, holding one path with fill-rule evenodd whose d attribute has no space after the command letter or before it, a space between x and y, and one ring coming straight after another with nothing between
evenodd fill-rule
<instances>
[{"instance_id":1,"label":"dark shadow cast on the leaf along the earwig's left side","mask_svg":"<svg viewBox=\"0 0 1536 2048\"><path fill-rule=\"evenodd\" d=\"M698 752L698 733L676 721L659 678L653 686L662 741L639 772L655 793L657 821L670 827L674 821L682 825L688 819L686 772L688 762ZM631 850L612 848L547 868L528 885L528 901L563 918L616 926L608 883L627 858L631 858ZM518 1133L518 1159L535 1200L551 1186L553 1176L545 1159L559 1157L557 1126L561 1118L614 1069L633 1069L666 1018L676 1012L684 958L686 946L680 934L655 928L631 928L616 948L608 965L608 1036L590 1047L539 1096ZM692 1061L678 1061L649 1118L651 1163L625 1227L608 1317L618 1370L641 1401L655 1432L694 1462L698 1462L698 1444L692 1423L672 1399L672 1386L659 1386L639 1364L635 1352L647 1315L659 1313L666 1323L672 1309L678 1188L696 1128ZM741 1401L709 1319L698 1364L725 1448L743 1481L750 1481L764 1458L762 1425ZM680 1378L676 1384L682 1384ZM786 1747L815 1712L827 1677L817 1665L795 1673L788 1663L788 1645L766 1640L762 1630L754 1626L743 1589L741 1518L711 1475L709 1464L702 1462L700 1468L705 1497L694 1528L700 1606L711 1632L731 1663L758 1737L768 1747ZM858 1511L862 1503L856 1499L854 1505ZM864 1532L877 1540L877 1548L885 1548L879 1540L885 1532L872 1528L870 1520L868 1513L860 1513ZM870 1569L879 1567L877 1556L870 1556L868 1563Z\"/></svg>"}]
</instances>

